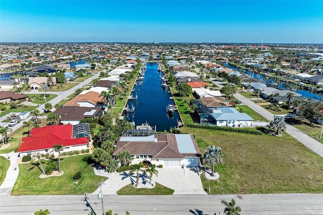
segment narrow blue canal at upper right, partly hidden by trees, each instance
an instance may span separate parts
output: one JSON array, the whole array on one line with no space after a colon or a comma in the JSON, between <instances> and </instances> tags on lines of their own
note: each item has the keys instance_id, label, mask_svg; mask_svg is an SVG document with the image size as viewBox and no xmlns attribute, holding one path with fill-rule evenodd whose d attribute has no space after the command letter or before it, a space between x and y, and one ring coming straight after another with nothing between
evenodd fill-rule
<instances>
[{"instance_id":1,"label":"narrow blue canal at upper right, partly hidden by trees","mask_svg":"<svg viewBox=\"0 0 323 215\"><path fill-rule=\"evenodd\" d=\"M226 67L229 67L233 70L238 70L239 68L230 64L225 64ZM273 84L276 81L268 76L264 76L262 74L257 74L254 72L250 72L249 70L243 70L245 72L245 74L251 76L252 78L256 78L256 79L260 79L263 81L263 83L265 84ZM305 98L312 98L312 99L317 99L320 100L323 97L323 94L320 92L315 92L315 91L311 91L311 90L306 90L306 89L301 89L301 86L297 86L296 84L292 84L292 83L288 83L285 81L279 81L279 83L277 83L278 88L279 89L283 89L283 90L290 90L290 89L296 89L295 92L301 94L303 97Z\"/></svg>"}]
</instances>

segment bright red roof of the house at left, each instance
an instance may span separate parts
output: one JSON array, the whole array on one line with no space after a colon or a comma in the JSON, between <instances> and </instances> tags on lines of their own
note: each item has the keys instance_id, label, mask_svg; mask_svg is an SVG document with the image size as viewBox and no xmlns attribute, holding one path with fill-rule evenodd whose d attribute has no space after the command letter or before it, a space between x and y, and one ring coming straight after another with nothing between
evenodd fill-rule
<instances>
[{"instance_id":1,"label":"bright red roof of the house at left","mask_svg":"<svg viewBox=\"0 0 323 215\"><path fill-rule=\"evenodd\" d=\"M18 152L52 148L57 143L63 146L87 144L87 137L72 138L73 125L54 125L34 128L30 137L23 137Z\"/></svg>"}]
</instances>

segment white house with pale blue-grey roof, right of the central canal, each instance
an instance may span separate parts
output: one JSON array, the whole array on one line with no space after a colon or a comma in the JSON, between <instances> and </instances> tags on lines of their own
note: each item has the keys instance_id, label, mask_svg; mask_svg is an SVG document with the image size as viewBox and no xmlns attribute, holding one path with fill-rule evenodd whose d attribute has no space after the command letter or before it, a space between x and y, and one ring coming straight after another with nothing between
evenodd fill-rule
<instances>
[{"instance_id":1,"label":"white house with pale blue-grey roof, right of the central canal","mask_svg":"<svg viewBox=\"0 0 323 215\"><path fill-rule=\"evenodd\" d=\"M215 126L248 127L251 126L253 120L249 115L228 107L199 106L195 109L194 114L200 124Z\"/></svg>"}]
</instances>

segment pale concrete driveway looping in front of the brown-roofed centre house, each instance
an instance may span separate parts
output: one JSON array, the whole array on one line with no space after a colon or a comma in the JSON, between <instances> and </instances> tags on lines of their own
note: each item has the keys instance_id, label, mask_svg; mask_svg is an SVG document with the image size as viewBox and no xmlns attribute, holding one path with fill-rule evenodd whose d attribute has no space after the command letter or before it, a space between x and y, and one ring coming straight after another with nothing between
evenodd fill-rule
<instances>
[{"instance_id":1,"label":"pale concrete driveway looping in front of the brown-roofed centre house","mask_svg":"<svg viewBox=\"0 0 323 215\"><path fill-rule=\"evenodd\" d=\"M194 168L181 167L163 167L156 168L158 176L152 177L154 182L171 188L176 194L207 194L203 190L200 176L196 173ZM124 186L131 183L129 177L129 171L124 173L111 174L109 179L104 181L102 186L103 195L117 195L117 191ZM135 174L132 176L133 180L136 180ZM96 189L92 194L99 193L99 189Z\"/></svg>"}]
</instances>

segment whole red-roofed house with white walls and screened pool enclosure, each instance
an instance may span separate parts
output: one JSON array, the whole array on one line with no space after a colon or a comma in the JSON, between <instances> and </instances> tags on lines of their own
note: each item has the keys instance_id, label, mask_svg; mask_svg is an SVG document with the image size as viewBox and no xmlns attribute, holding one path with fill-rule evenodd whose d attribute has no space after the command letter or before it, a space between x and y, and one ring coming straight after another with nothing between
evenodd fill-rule
<instances>
[{"instance_id":1,"label":"whole red-roofed house with white walls and screened pool enclosure","mask_svg":"<svg viewBox=\"0 0 323 215\"><path fill-rule=\"evenodd\" d=\"M88 124L53 125L34 128L29 137L23 137L18 152L20 158L33 153L58 155L52 147L60 143L61 151L86 149L91 140Z\"/></svg>"}]
</instances>

